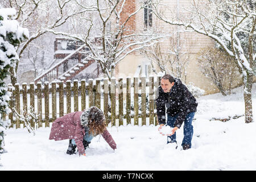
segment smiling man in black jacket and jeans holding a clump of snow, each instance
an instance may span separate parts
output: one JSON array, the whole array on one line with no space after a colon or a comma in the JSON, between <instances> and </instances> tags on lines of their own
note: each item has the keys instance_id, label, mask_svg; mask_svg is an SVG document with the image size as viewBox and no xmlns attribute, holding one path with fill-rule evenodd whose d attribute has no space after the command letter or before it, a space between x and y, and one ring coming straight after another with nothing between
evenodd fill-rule
<instances>
[{"instance_id":1,"label":"smiling man in black jacket and jeans holding a clump of snow","mask_svg":"<svg viewBox=\"0 0 256 182\"><path fill-rule=\"evenodd\" d=\"M192 120L196 112L197 102L195 97L182 84L180 79L171 75L164 75L161 78L158 97L156 98L156 114L160 128L166 124L173 128L171 136L167 137L167 144L174 143L177 148L176 130L184 122L184 138L181 143L183 150L191 148L193 135Z\"/></svg>"}]
</instances>

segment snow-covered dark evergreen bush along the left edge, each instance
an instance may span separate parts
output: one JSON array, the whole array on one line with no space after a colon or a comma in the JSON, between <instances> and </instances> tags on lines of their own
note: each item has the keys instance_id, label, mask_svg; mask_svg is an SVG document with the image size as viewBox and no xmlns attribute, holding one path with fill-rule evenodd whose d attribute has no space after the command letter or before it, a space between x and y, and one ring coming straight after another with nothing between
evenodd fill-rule
<instances>
[{"instance_id":1,"label":"snow-covered dark evergreen bush along the left edge","mask_svg":"<svg viewBox=\"0 0 256 182\"><path fill-rule=\"evenodd\" d=\"M12 17L16 14L15 9L1 8L0 5L0 153L5 152L4 136L9 126L9 121L3 121L3 114L8 114L8 101L11 93L7 91L3 81L14 66L19 57L15 48L19 43L28 38L27 28L22 28Z\"/></svg>"}]
</instances>

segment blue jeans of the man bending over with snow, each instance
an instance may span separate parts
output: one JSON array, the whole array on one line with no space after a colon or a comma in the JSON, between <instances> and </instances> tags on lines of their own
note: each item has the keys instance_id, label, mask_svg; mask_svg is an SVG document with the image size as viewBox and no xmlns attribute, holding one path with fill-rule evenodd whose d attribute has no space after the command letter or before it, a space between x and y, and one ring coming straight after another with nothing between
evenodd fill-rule
<instances>
[{"instance_id":1,"label":"blue jeans of the man bending over with snow","mask_svg":"<svg viewBox=\"0 0 256 182\"><path fill-rule=\"evenodd\" d=\"M193 136L193 126L192 126L192 121L194 118L195 112L193 113L188 113L185 121L184 121L184 138L182 140L181 146L184 146L185 144L189 145L188 148L191 148L191 140ZM176 121L177 114L174 117L171 117L170 115L167 114L167 125L174 127L174 123ZM176 142L176 132L167 137L167 143L172 143ZM176 142L177 143L177 142Z\"/></svg>"}]
</instances>

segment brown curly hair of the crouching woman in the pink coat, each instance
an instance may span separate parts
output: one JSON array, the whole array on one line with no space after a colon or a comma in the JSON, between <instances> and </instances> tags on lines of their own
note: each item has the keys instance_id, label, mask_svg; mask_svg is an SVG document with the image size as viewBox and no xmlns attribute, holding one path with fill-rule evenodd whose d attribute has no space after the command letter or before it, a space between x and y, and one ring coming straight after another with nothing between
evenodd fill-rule
<instances>
[{"instance_id":1,"label":"brown curly hair of the crouching woman in the pink coat","mask_svg":"<svg viewBox=\"0 0 256 182\"><path fill-rule=\"evenodd\" d=\"M101 109L93 106L89 113L89 134L96 136L102 134L106 129L105 117Z\"/></svg>"}]
</instances>

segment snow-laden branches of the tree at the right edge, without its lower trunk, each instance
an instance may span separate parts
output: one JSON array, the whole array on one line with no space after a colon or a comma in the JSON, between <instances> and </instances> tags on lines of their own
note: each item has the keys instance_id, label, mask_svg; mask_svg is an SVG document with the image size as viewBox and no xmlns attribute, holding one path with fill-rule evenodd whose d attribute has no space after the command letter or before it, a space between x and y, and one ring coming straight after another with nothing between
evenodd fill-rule
<instances>
[{"instance_id":1,"label":"snow-laden branches of the tree at the right edge, without its lower trunk","mask_svg":"<svg viewBox=\"0 0 256 182\"><path fill-rule=\"evenodd\" d=\"M168 19L160 13L160 1L154 3L154 14L164 22L176 26L192 28L199 34L214 39L225 51L233 57L237 57L237 65L241 70L251 72L255 63L253 52L247 51L250 46L246 40L255 34L255 5L249 1L192 1L191 7L180 9L187 13L188 18L177 17ZM250 4L251 3L251 4ZM251 46L252 47L252 46ZM251 54L251 56L249 55ZM250 60L249 60L249 57ZM245 73L245 72L243 72Z\"/></svg>"}]
</instances>

